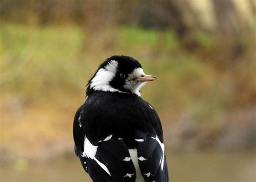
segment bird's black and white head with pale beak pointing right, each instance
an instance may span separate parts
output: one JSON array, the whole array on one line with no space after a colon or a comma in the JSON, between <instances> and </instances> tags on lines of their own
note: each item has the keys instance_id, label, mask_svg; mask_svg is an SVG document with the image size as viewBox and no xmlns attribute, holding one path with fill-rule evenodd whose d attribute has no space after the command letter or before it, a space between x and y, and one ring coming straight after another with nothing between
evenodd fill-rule
<instances>
[{"instance_id":1,"label":"bird's black and white head with pale beak pointing right","mask_svg":"<svg viewBox=\"0 0 256 182\"><path fill-rule=\"evenodd\" d=\"M93 91L131 93L140 96L140 88L146 81L156 80L156 76L146 75L142 65L124 55L107 58L89 80L86 95Z\"/></svg>"}]
</instances>

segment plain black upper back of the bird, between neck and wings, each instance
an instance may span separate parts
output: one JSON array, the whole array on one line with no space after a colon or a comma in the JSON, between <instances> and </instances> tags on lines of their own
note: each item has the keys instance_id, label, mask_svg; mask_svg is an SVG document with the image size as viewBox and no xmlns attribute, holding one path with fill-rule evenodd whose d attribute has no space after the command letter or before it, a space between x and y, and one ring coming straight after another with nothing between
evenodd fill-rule
<instances>
[{"instance_id":1,"label":"plain black upper back of the bird, between neck and wings","mask_svg":"<svg viewBox=\"0 0 256 182\"><path fill-rule=\"evenodd\" d=\"M161 141L163 138L156 110L133 94L95 92L78 109L75 120L75 128L82 129L80 133L92 142L110 134L131 138L136 129L149 133L155 130Z\"/></svg>"}]
</instances>

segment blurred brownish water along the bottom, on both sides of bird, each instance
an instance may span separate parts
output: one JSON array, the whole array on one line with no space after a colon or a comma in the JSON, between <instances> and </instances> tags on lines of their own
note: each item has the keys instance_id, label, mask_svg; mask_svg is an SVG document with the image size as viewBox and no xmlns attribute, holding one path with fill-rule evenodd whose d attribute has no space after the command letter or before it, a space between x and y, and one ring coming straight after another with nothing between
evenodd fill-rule
<instances>
[{"instance_id":1,"label":"blurred brownish water along the bottom, on both sides of bird","mask_svg":"<svg viewBox=\"0 0 256 182\"><path fill-rule=\"evenodd\" d=\"M171 181L256 181L255 152L168 152ZM1 181L91 181L75 155L1 165Z\"/></svg>"}]
</instances>

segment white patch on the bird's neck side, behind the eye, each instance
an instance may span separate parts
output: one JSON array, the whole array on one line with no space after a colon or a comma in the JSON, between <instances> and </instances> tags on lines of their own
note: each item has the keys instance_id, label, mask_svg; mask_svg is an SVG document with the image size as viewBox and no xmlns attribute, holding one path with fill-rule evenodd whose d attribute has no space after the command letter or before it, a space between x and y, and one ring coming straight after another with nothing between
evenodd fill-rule
<instances>
[{"instance_id":1,"label":"white patch on the bird's neck side, behind the eye","mask_svg":"<svg viewBox=\"0 0 256 182\"><path fill-rule=\"evenodd\" d=\"M114 78L117 72L118 62L111 60L107 66L99 69L95 77L91 80L90 88L99 91L120 92L124 93L109 85L110 81Z\"/></svg>"}]
</instances>

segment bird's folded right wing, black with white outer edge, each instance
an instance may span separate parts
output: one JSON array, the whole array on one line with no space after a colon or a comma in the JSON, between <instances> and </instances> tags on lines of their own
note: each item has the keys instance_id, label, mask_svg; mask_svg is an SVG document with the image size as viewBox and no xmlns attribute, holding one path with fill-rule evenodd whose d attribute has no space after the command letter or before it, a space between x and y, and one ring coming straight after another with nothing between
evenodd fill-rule
<instances>
[{"instance_id":1,"label":"bird's folded right wing, black with white outer edge","mask_svg":"<svg viewBox=\"0 0 256 182\"><path fill-rule=\"evenodd\" d=\"M169 181L164 143L156 134L136 131L139 168L145 181Z\"/></svg>"}]
</instances>

